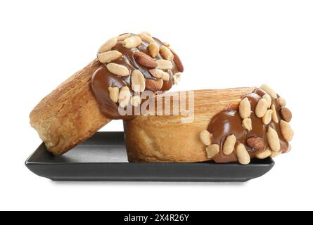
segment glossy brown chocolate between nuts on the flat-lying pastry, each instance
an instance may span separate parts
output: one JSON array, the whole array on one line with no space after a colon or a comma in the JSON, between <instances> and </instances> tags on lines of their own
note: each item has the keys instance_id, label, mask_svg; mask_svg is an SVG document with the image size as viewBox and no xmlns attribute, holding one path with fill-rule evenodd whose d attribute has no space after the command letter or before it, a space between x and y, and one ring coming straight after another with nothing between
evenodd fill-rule
<instances>
[{"instance_id":1,"label":"glossy brown chocolate between nuts on the flat-lying pastry","mask_svg":"<svg viewBox=\"0 0 313 225\"><path fill-rule=\"evenodd\" d=\"M266 94L265 91L262 89L255 89L253 93L246 94L242 97L247 97L250 101L251 105L251 115L250 118L252 120L252 130L247 131L242 126L242 119L238 113L238 105L234 106L231 105L226 110L223 110L220 113L217 113L207 128L207 130L212 134L212 143L219 144L219 153L215 155L213 160L215 162L236 162L238 161L235 150L231 155L224 155L222 146L227 136L234 134L237 139L237 143L243 143L245 148L248 150L250 158L255 158L255 153L257 153L257 149L250 148L247 144L247 140L250 137L260 137L264 141L264 149L269 149L269 143L267 142L267 128L270 126L276 130L277 134L279 135L279 140L281 143L281 151L285 153L289 146L288 142L283 139L281 135L281 128L279 123L274 122L273 120L269 124L263 124L262 118L259 118L255 115L255 107L257 102L262 98L262 96ZM276 114L279 119L281 120L281 115L279 114L280 106L277 99L272 99L272 104L275 105ZM236 148L236 147L235 147Z\"/></svg>"}]
</instances>

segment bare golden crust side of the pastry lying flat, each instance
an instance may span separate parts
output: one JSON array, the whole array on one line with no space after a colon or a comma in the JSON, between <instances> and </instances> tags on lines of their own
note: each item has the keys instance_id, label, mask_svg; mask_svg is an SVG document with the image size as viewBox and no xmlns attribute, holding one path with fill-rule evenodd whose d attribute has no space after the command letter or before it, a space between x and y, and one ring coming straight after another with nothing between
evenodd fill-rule
<instances>
[{"instance_id":1,"label":"bare golden crust side of the pastry lying flat","mask_svg":"<svg viewBox=\"0 0 313 225\"><path fill-rule=\"evenodd\" d=\"M124 136L129 162L207 161L200 131L214 115L229 105L238 105L241 96L253 87L194 91L194 118L181 122L184 115L141 115L124 121ZM174 95L177 93L171 93ZM164 104L164 98L162 98ZM188 121L188 120L187 120Z\"/></svg>"}]
</instances>

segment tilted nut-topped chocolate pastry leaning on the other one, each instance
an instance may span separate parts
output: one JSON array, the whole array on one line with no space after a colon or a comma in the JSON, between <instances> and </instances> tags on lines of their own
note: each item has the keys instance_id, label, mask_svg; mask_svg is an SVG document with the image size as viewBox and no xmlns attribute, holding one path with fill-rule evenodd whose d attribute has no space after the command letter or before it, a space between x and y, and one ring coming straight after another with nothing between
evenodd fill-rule
<instances>
[{"instance_id":1,"label":"tilted nut-topped chocolate pastry leaning on the other one","mask_svg":"<svg viewBox=\"0 0 313 225\"><path fill-rule=\"evenodd\" d=\"M30 124L46 148L61 155L112 119L140 107L139 94L167 91L184 67L169 44L147 32L122 34L104 43L97 59L46 96L30 113ZM148 98L147 98L148 99Z\"/></svg>"}]
</instances>

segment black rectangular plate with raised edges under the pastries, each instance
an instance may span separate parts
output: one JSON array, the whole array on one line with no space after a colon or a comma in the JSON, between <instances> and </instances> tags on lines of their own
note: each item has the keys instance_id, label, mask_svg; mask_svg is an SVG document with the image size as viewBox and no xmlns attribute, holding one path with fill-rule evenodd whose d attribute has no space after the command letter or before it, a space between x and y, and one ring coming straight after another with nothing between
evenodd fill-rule
<instances>
[{"instance_id":1,"label":"black rectangular plate with raised edges under the pastries","mask_svg":"<svg viewBox=\"0 0 313 225\"><path fill-rule=\"evenodd\" d=\"M44 143L26 160L30 171L53 181L248 181L269 172L271 158L249 165L215 162L128 162L123 132L98 132L61 156Z\"/></svg>"}]
</instances>

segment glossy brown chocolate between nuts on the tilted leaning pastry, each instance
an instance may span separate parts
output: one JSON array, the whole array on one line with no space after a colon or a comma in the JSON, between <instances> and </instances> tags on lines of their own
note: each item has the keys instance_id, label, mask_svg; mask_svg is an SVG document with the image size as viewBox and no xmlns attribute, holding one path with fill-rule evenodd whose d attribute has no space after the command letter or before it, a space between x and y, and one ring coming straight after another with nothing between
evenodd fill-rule
<instances>
[{"instance_id":1,"label":"glossy brown chocolate between nuts on the tilted leaning pastry","mask_svg":"<svg viewBox=\"0 0 313 225\"><path fill-rule=\"evenodd\" d=\"M134 36L136 34L131 34L131 36ZM163 43L159 39L156 39L155 43L158 44L158 46L162 46ZM140 70L145 79L155 79L149 72L151 68L145 68L139 63L136 63L136 60L134 58L134 53L137 51L141 51L143 53L146 53L148 56L151 56L148 50L148 42L142 41L141 45L139 45L136 48L133 49L127 49L123 46L123 41L117 41L117 44L113 49L111 50L117 50L122 53L122 58L118 60L114 60L111 63L117 63L120 65L124 65L127 67L130 71L130 74L132 74L132 71L134 70ZM175 57L175 55L174 55ZM158 53L158 56L154 58L154 60L163 59L160 53ZM179 60L179 58L175 58L175 60ZM106 68L106 64L104 63L101 67L99 67L95 72L91 79L91 87L94 91L94 95L96 96L96 99L98 103L101 105L101 110L103 111L104 115L110 119L123 119L123 120L129 120L134 117L134 115L120 115L118 112L118 103L113 103L113 101L110 100L108 87L117 86L118 88L122 88L123 86L128 86L129 90L132 92L132 95L134 95L134 92L132 91L132 84L131 84L131 76L127 77L120 77L117 75L114 75L113 73L109 72ZM170 90L171 87L174 84L174 74L179 72L179 69L177 68L177 65L174 63L174 60L172 60L172 69L167 70L167 72L170 75L169 81L163 81L163 86L161 91L167 91Z\"/></svg>"}]
</instances>

